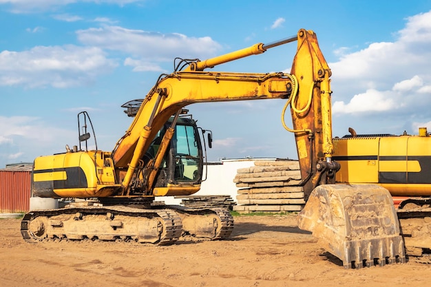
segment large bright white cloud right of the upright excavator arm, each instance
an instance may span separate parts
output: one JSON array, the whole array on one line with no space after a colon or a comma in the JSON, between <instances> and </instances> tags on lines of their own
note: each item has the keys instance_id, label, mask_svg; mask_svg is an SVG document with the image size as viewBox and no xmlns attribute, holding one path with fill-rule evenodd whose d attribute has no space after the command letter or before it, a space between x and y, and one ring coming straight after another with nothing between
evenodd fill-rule
<instances>
[{"instance_id":1,"label":"large bright white cloud right of the upright excavator arm","mask_svg":"<svg viewBox=\"0 0 431 287\"><path fill-rule=\"evenodd\" d=\"M417 75L430 74L431 11L408 18L393 42L371 43L363 50L341 54L339 61L330 63L333 79L344 81L346 87L392 88L394 83Z\"/></svg>"}]
</instances>

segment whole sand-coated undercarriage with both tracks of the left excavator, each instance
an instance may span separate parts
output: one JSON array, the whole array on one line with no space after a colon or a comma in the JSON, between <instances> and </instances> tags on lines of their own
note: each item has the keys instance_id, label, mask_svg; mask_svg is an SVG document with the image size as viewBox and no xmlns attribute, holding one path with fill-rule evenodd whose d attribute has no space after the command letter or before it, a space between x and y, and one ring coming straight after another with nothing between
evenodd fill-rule
<instances>
[{"instance_id":1,"label":"whole sand-coated undercarriage with both tracks of the left excavator","mask_svg":"<svg viewBox=\"0 0 431 287\"><path fill-rule=\"evenodd\" d=\"M103 240L167 245L182 240L221 240L231 235L233 217L226 209L157 206L78 206L32 211L21 221L27 242Z\"/></svg>"}]
</instances>

